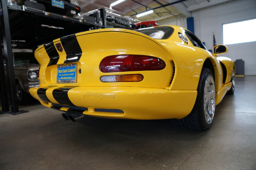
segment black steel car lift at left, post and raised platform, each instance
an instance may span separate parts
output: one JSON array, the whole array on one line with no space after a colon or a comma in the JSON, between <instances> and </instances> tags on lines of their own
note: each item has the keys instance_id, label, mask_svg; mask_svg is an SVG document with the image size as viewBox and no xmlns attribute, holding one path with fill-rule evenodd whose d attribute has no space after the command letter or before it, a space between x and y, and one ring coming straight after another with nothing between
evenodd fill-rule
<instances>
[{"instance_id":1,"label":"black steel car lift at left, post and raised platform","mask_svg":"<svg viewBox=\"0 0 256 170\"><path fill-rule=\"evenodd\" d=\"M100 17L102 16L102 17ZM20 114L19 111L14 61L12 55L12 40L17 43L18 49L35 49L46 42L91 29L106 28L105 9L100 9L100 14L93 17L78 18L42 11L29 6L18 6L15 0L0 0L0 99L1 113ZM54 26L54 27L52 27ZM3 60L6 60L6 74ZM7 77L7 79L6 79ZM7 80L7 81L6 81ZM9 87L8 91L6 90ZM11 108L11 111L10 109Z\"/></svg>"}]
</instances>

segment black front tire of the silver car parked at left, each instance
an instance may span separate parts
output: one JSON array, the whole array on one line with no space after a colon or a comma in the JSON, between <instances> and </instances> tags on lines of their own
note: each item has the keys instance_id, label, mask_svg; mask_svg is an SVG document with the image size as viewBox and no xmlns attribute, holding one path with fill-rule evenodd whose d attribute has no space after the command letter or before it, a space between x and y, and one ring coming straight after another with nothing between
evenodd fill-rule
<instances>
[{"instance_id":1,"label":"black front tire of the silver car parked at left","mask_svg":"<svg viewBox=\"0 0 256 170\"><path fill-rule=\"evenodd\" d=\"M27 105L32 101L32 96L23 90L20 83L16 83L16 93L19 105Z\"/></svg>"}]
</instances>

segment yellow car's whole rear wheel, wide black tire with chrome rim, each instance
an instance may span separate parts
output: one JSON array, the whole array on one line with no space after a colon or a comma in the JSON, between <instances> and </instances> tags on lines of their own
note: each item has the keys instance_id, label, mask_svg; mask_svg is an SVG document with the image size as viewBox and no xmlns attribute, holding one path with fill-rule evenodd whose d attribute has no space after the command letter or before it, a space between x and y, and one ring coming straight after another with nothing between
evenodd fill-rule
<instances>
[{"instance_id":1,"label":"yellow car's whole rear wheel, wide black tire with chrome rim","mask_svg":"<svg viewBox=\"0 0 256 170\"><path fill-rule=\"evenodd\" d=\"M171 119L176 127L204 131L212 126L216 94L213 74L209 68L203 67L197 91L197 98L191 113L183 119Z\"/></svg>"}]
</instances>

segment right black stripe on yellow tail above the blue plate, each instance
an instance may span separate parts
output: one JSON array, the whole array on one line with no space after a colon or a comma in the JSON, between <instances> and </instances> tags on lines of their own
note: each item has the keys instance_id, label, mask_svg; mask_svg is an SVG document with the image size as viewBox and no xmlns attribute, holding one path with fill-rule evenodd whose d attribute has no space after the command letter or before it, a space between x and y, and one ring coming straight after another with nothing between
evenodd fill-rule
<instances>
[{"instance_id":1,"label":"right black stripe on yellow tail above the blue plate","mask_svg":"<svg viewBox=\"0 0 256 170\"><path fill-rule=\"evenodd\" d=\"M64 63L78 62L82 55L82 50L77 41L76 34L61 38L61 44L67 54Z\"/></svg>"}]
</instances>

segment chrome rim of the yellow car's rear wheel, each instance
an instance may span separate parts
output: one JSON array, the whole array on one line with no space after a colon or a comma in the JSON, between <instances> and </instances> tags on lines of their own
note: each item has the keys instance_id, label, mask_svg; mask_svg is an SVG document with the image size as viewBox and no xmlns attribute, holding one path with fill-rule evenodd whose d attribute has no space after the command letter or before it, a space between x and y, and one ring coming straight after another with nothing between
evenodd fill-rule
<instances>
[{"instance_id":1,"label":"chrome rim of the yellow car's rear wheel","mask_svg":"<svg viewBox=\"0 0 256 170\"><path fill-rule=\"evenodd\" d=\"M211 124L215 111L215 84L212 75L208 75L204 86L204 118L207 124Z\"/></svg>"}]
</instances>

